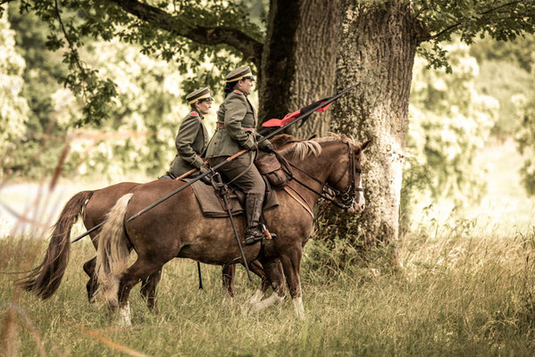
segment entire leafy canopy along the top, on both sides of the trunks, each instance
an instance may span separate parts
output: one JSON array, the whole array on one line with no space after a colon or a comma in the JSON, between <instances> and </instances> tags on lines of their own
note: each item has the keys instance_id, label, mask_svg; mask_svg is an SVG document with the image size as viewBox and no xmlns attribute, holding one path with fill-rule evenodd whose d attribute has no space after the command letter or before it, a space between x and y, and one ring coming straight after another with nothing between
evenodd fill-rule
<instances>
[{"instance_id":1,"label":"entire leafy canopy along the top, on both sides of the trunks","mask_svg":"<svg viewBox=\"0 0 535 357\"><path fill-rule=\"evenodd\" d=\"M2 4L12 0L4 0ZM364 2L381 8L387 0ZM406 0L408 1L408 0ZM86 102L78 125L101 123L108 117L110 99L117 95L112 80L90 68L79 54L87 38L110 41L115 37L141 46L143 54L152 54L176 62L182 73L196 72L198 64L213 62L220 71L228 71L240 61L262 61L263 29L252 20L247 5L263 6L264 1L241 0L20 0L21 12L34 12L49 27L46 45L63 50L63 62L69 74L63 83ZM434 68L445 67L447 51L440 46L458 34L466 44L486 34L498 40L512 40L535 28L535 0L414 0L413 13L404 14L418 30L415 40L419 51ZM2 8L0 7L0 11ZM270 25L268 24L268 27ZM193 61L185 62L185 58ZM221 78L201 71L184 84L217 89Z\"/></svg>"}]
</instances>

